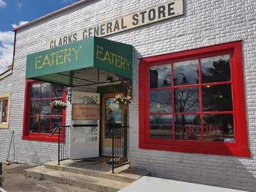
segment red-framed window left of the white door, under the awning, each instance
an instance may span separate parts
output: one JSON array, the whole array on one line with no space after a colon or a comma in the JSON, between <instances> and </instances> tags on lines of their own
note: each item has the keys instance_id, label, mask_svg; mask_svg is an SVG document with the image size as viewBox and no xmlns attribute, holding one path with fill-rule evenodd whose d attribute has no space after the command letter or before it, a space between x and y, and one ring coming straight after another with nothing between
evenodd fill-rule
<instances>
[{"instance_id":1,"label":"red-framed window left of the white door, under the awning","mask_svg":"<svg viewBox=\"0 0 256 192\"><path fill-rule=\"evenodd\" d=\"M63 98L63 87L36 81L26 82L24 139L55 141L49 137L53 129L65 124L65 110L51 108L51 102Z\"/></svg>"}]
</instances>

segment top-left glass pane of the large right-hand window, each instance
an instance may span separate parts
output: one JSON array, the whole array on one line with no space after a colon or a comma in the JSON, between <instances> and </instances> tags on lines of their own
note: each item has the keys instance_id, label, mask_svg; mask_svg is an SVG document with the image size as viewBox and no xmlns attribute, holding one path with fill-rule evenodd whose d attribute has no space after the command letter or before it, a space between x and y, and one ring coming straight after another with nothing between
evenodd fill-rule
<instances>
[{"instance_id":1,"label":"top-left glass pane of the large right-hand window","mask_svg":"<svg viewBox=\"0 0 256 192\"><path fill-rule=\"evenodd\" d=\"M172 65L150 67L150 88L170 86L172 84Z\"/></svg>"}]
</instances>

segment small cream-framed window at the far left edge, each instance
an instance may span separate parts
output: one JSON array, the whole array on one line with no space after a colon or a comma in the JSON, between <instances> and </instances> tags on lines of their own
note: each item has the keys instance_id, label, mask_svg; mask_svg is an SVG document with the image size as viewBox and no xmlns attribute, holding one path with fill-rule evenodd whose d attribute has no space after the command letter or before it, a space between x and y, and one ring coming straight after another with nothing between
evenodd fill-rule
<instances>
[{"instance_id":1,"label":"small cream-framed window at the far left edge","mask_svg":"<svg viewBox=\"0 0 256 192\"><path fill-rule=\"evenodd\" d=\"M0 94L0 128L9 127L10 93Z\"/></svg>"}]
</instances>

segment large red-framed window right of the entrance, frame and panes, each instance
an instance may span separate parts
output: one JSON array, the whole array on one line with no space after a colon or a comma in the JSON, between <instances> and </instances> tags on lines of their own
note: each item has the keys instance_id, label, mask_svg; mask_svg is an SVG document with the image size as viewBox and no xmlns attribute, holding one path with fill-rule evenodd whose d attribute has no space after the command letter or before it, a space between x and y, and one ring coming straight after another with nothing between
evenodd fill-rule
<instances>
[{"instance_id":1,"label":"large red-framed window right of the entrance, frame and panes","mask_svg":"<svg viewBox=\"0 0 256 192\"><path fill-rule=\"evenodd\" d=\"M249 156L247 142L241 42L141 59L141 148Z\"/></svg>"}]
</instances>

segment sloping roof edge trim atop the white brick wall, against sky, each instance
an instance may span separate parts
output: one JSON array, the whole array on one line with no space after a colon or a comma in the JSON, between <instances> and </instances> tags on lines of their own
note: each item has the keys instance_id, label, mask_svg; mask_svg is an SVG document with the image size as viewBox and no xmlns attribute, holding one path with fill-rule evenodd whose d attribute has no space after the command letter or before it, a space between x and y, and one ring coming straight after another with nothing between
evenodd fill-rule
<instances>
[{"instance_id":1,"label":"sloping roof edge trim atop the white brick wall, against sky","mask_svg":"<svg viewBox=\"0 0 256 192\"><path fill-rule=\"evenodd\" d=\"M92 0L81 0L81 1L78 1L76 3L73 3L73 4L70 4L68 6L65 6L63 8L60 8L59 10L56 10L54 12L51 12L51 13L48 13L47 15L44 15L42 17L39 17L38 19L35 19L35 20L31 20L30 22L26 23L26 24L23 24L21 26L18 26L17 28L13 28L13 31L20 31L24 28L28 28L29 26L33 26L34 24L38 23L38 22L42 22L44 20L47 20L55 15L59 15L60 13L63 13L63 12L66 12L68 10L72 10L74 8L77 8L78 6L81 6L82 4L84 3L88 3L89 1L92 1Z\"/></svg>"}]
</instances>

